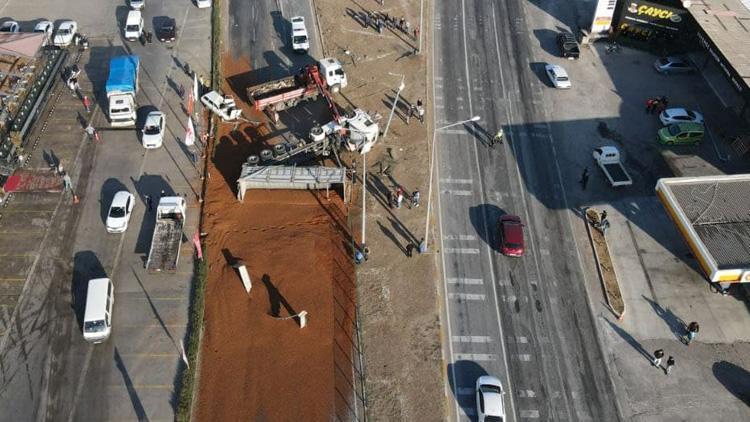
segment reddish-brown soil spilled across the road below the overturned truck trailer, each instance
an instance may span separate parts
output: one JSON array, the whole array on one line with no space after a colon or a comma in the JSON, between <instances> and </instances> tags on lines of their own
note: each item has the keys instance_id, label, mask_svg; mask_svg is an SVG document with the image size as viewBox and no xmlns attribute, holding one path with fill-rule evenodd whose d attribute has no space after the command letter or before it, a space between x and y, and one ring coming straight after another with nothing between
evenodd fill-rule
<instances>
[{"instance_id":1,"label":"reddish-brown soil spilled across the road below the overturned truck trailer","mask_svg":"<svg viewBox=\"0 0 750 422\"><path fill-rule=\"evenodd\" d=\"M246 72L243 66L227 57L223 71ZM333 191L329 199L325 192L250 191L238 202L240 166L265 133L223 125L209 150L210 269L196 417L350 420L355 284L346 206ZM250 294L229 264L236 259L247 266ZM279 319L301 311L305 328Z\"/></svg>"}]
</instances>

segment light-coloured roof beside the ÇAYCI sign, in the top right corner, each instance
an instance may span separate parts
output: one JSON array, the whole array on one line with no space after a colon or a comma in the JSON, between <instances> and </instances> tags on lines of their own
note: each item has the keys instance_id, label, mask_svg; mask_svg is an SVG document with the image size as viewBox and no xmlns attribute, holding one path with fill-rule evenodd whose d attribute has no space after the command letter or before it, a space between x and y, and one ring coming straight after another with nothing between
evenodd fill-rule
<instances>
[{"instance_id":1,"label":"light-coloured roof beside the \u00c7AYCI sign, in the top right corner","mask_svg":"<svg viewBox=\"0 0 750 422\"><path fill-rule=\"evenodd\" d=\"M750 0L693 0L687 10L750 87Z\"/></svg>"}]
</instances>

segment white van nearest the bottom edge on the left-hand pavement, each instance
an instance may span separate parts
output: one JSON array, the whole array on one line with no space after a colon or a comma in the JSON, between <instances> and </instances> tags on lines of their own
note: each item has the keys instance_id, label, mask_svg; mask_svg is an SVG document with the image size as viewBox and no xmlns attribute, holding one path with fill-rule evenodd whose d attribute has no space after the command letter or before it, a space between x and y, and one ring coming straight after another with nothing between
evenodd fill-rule
<instances>
[{"instance_id":1,"label":"white van nearest the bottom edge on the left-hand pavement","mask_svg":"<svg viewBox=\"0 0 750 422\"><path fill-rule=\"evenodd\" d=\"M112 332L112 304L115 301L112 280L95 278L89 280L86 293L86 311L83 314L83 338L92 343L101 343Z\"/></svg>"}]
</instances>

